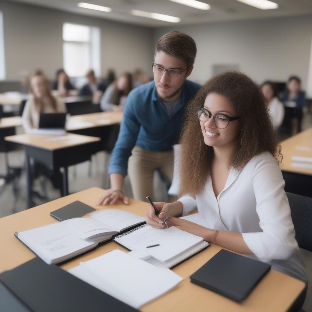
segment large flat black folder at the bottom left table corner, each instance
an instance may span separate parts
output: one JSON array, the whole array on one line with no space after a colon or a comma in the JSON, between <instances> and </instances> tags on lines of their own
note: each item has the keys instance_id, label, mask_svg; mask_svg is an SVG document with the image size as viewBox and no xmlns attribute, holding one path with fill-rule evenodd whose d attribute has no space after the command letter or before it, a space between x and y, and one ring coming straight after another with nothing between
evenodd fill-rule
<instances>
[{"instance_id":1,"label":"large flat black folder at the bottom left table corner","mask_svg":"<svg viewBox=\"0 0 312 312\"><path fill-rule=\"evenodd\" d=\"M38 257L1 273L0 280L34 312L138 311Z\"/></svg>"}]
</instances>

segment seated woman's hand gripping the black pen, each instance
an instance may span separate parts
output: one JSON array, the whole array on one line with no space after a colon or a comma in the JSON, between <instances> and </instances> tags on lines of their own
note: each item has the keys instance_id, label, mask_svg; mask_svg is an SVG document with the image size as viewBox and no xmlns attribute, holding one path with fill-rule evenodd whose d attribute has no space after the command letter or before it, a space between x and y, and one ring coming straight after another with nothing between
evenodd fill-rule
<instances>
[{"instance_id":1,"label":"seated woman's hand gripping the black pen","mask_svg":"<svg viewBox=\"0 0 312 312\"><path fill-rule=\"evenodd\" d=\"M166 227L164 221L169 217L176 217L182 214L183 206L181 202L154 202L157 210L160 211L159 217L155 215L154 208L149 205L145 214L145 220L151 227L163 228Z\"/></svg>"}]
</instances>

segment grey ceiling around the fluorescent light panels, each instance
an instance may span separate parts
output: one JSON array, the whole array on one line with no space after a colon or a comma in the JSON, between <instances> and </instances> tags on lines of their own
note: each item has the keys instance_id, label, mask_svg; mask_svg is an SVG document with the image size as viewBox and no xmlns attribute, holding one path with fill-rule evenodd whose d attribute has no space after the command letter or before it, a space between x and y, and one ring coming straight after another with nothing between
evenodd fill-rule
<instances>
[{"instance_id":1,"label":"grey ceiling around the fluorescent light panels","mask_svg":"<svg viewBox=\"0 0 312 312\"><path fill-rule=\"evenodd\" d=\"M312 14L312 0L272 0L279 4L273 10L261 10L236 0L200 0L211 5L207 11L198 10L169 0L18 0L62 11L88 16L126 22L146 27L161 27L173 23L153 20L146 17L136 17L131 10L155 12L181 18L176 25L197 24L207 22L225 22L244 19L268 18ZM77 7L78 2L111 7L112 12L100 12Z\"/></svg>"}]
</instances>

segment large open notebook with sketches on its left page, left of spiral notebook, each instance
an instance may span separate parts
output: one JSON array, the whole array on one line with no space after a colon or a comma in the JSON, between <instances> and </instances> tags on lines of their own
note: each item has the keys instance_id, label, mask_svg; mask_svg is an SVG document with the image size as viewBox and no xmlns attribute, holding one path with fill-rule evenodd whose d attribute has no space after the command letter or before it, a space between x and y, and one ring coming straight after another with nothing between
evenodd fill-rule
<instances>
[{"instance_id":1,"label":"large open notebook with sketches on its left page, left of spiral notebook","mask_svg":"<svg viewBox=\"0 0 312 312\"><path fill-rule=\"evenodd\" d=\"M100 210L88 216L15 232L15 236L47 264L54 264L89 251L113 235L145 222L143 217L119 209Z\"/></svg>"}]
</instances>

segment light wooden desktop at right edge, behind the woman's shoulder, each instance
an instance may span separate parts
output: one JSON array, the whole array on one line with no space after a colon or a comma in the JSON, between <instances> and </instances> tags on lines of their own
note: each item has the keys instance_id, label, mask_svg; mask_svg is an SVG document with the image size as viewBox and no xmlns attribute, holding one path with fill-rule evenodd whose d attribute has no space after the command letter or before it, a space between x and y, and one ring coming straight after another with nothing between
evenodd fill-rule
<instances>
[{"instance_id":1,"label":"light wooden desktop at right edge, behind the woman's shoulder","mask_svg":"<svg viewBox=\"0 0 312 312\"><path fill-rule=\"evenodd\" d=\"M283 161L281 170L294 173L312 175L312 169L295 168L291 164L292 156L312 157L312 128L293 135L289 139L280 142L282 147Z\"/></svg>"}]
</instances>

